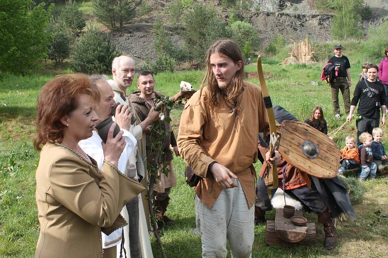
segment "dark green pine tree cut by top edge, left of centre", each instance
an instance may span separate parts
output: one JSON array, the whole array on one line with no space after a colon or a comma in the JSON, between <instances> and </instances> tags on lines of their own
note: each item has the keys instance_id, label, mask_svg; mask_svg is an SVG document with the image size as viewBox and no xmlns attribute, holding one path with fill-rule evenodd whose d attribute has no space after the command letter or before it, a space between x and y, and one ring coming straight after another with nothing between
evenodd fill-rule
<instances>
[{"instance_id":1,"label":"dark green pine tree cut by top edge, left of centre","mask_svg":"<svg viewBox=\"0 0 388 258\"><path fill-rule=\"evenodd\" d=\"M135 16L133 0L93 0L93 7L97 19L111 29L122 28Z\"/></svg>"}]
</instances>

